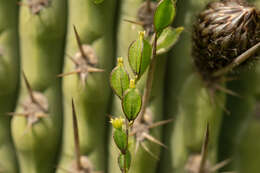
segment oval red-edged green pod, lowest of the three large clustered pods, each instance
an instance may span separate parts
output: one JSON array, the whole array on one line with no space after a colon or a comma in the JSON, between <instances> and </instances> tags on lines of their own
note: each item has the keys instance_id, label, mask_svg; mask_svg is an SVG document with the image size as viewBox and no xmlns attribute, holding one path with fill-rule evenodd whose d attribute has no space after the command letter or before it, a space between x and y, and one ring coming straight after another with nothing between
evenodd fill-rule
<instances>
[{"instance_id":1,"label":"oval red-edged green pod, lowest of the three large clustered pods","mask_svg":"<svg viewBox=\"0 0 260 173\"><path fill-rule=\"evenodd\" d=\"M131 84L130 84L131 85ZM129 121L134 120L141 110L142 97L137 89L128 89L122 99L122 107L126 118Z\"/></svg>"}]
</instances>

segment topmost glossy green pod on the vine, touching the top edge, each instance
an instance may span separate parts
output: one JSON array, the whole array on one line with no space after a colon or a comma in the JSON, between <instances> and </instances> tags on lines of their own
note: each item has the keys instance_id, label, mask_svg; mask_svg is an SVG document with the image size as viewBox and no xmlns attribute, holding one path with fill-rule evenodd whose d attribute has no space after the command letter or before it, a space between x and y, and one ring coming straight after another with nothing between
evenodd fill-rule
<instances>
[{"instance_id":1,"label":"topmost glossy green pod on the vine, touching the top edge","mask_svg":"<svg viewBox=\"0 0 260 173\"><path fill-rule=\"evenodd\" d=\"M172 0L162 0L154 14L154 28L157 33L169 26L175 17L175 4Z\"/></svg>"}]
</instances>

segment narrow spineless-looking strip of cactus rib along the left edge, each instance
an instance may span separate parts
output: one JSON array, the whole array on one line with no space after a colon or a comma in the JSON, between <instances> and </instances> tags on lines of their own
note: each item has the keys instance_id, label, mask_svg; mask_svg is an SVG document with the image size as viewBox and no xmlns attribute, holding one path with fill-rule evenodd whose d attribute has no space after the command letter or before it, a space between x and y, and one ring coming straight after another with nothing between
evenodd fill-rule
<instances>
[{"instance_id":1,"label":"narrow spineless-looking strip of cactus rib along the left edge","mask_svg":"<svg viewBox=\"0 0 260 173\"><path fill-rule=\"evenodd\" d=\"M8 18L8 20L6 20ZM0 171L17 172L8 112L13 112L18 89L18 6L0 1ZM7 75L8 74L8 75Z\"/></svg>"}]
</instances>

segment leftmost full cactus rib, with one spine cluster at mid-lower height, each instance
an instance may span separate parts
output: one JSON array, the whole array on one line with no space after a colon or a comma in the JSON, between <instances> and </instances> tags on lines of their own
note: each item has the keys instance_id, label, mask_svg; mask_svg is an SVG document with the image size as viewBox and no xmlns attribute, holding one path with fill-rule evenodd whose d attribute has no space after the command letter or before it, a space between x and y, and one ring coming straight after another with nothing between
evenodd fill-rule
<instances>
[{"instance_id":1,"label":"leftmost full cactus rib, with one spine cluster at mid-lower height","mask_svg":"<svg viewBox=\"0 0 260 173\"><path fill-rule=\"evenodd\" d=\"M57 74L63 63L67 4L50 1L34 11L36 7L26 3L20 3L19 32L21 69L27 81L21 80L12 136L20 172L54 172L62 123L61 80Z\"/></svg>"}]
</instances>

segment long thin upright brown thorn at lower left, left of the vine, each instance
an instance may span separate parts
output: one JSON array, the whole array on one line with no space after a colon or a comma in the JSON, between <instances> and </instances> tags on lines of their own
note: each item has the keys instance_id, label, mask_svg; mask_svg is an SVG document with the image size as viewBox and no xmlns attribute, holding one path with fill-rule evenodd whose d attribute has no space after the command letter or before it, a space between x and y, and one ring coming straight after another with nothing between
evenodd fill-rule
<instances>
[{"instance_id":1,"label":"long thin upright brown thorn at lower left, left of the vine","mask_svg":"<svg viewBox=\"0 0 260 173\"><path fill-rule=\"evenodd\" d=\"M77 170L81 170L82 169L82 165L81 165L81 162L80 162L80 147L79 147L78 123L77 123L77 116L76 116L75 105L74 105L73 99L71 100L71 104L72 104L73 132L74 132L74 142L75 142Z\"/></svg>"}]
</instances>

